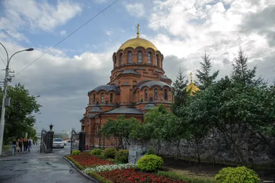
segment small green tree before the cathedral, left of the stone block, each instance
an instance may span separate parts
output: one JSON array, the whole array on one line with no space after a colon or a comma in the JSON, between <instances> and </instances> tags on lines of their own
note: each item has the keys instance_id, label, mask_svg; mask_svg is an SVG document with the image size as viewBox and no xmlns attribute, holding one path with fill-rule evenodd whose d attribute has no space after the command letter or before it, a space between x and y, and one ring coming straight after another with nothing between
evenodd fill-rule
<instances>
[{"instance_id":1,"label":"small green tree before the cathedral, left of the stone block","mask_svg":"<svg viewBox=\"0 0 275 183\"><path fill-rule=\"evenodd\" d=\"M130 133L138 123L136 118L125 118L125 116L118 116L117 120L109 118L101 129L102 135L113 142L116 149L126 149L126 145L130 145ZM113 140L113 136L118 138L118 143Z\"/></svg>"}]
</instances>

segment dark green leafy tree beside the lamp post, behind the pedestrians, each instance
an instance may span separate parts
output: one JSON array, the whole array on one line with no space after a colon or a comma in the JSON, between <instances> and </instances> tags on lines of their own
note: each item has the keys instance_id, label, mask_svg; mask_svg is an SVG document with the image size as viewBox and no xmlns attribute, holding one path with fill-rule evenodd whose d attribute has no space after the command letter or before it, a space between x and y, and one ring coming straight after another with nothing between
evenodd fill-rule
<instances>
[{"instance_id":1,"label":"dark green leafy tree beside the lamp post, behind the pedestrians","mask_svg":"<svg viewBox=\"0 0 275 183\"><path fill-rule=\"evenodd\" d=\"M10 97L10 107L5 110L5 133L4 140L9 137L23 137L28 132L29 127L33 127L36 121L33 113L39 112L41 105L37 103L34 96L24 85L18 83L14 86L8 86L8 95ZM1 92L1 99L3 94Z\"/></svg>"}]
</instances>

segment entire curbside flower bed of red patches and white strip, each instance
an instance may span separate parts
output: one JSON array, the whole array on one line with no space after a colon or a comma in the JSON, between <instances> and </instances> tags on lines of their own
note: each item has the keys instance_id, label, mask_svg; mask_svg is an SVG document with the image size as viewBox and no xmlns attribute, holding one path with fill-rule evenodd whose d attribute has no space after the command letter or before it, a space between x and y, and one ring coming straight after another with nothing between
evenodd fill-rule
<instances>
[{"instance_id":1,"label":"entire curbside flower bed of red patches and white strip","mask_svg":"<svg viewBox=\"0 0 275 183\"><path fill-rule=\"evenodd\" d=\"M137 169L137 164L115 164L96 155L80 153L67 155L83 173L94 177L99 182L175 182L186 183L175 177L146 173Z\"/></svg>"}]
</instances>

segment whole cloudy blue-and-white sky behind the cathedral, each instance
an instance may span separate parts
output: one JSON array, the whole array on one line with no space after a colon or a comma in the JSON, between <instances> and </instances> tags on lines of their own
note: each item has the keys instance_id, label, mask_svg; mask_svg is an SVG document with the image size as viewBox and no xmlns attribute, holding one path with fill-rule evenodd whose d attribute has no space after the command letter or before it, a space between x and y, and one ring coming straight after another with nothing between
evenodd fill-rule
<instances>
[{"instance_id":1,"label":"whole cloudy blue-and-white sky behind the cathedral","mask_svg":"<svg viewBox=\"0 0 275 183\"><path fill-rule=\"evenodd\" d=\"M38 131L51 123L56 132L80 130L87 93L109 82L113 52L135 38L137 23L140 37L164 54L164 71L173 81L179 69L186 78L196 72L204 52L212 72L219 69L219 78L229 75L240 46L249 67L257 65L258 76L270 83L275 79L274 0L119 0L107 8L114 1L0 1L0 42L9 55L34 48L12 58L10 85L21 83L40 96ZM0 46L1 69L5 63ZM0 74L3 80L4 71Z\"/></svg>"}]
</instances>

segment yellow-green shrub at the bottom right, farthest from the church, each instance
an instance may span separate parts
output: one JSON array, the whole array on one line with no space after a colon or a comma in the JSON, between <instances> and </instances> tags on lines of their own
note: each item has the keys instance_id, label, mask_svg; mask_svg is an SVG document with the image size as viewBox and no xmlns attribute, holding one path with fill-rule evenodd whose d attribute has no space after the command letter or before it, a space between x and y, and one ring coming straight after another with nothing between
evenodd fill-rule
<instances>
[{"instance_id":1,"label":"yellow-green shrub at the bottom right, farthest from the church","mask_svg":"<svg viewBox=\"0 0 275 183\"><path fill-rule=\"evenodd\" d=\"M214 178L219 183L260 182L259 176L245 166L223 168Z\"/></svg>"}]
</instances>

